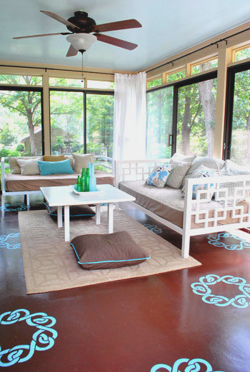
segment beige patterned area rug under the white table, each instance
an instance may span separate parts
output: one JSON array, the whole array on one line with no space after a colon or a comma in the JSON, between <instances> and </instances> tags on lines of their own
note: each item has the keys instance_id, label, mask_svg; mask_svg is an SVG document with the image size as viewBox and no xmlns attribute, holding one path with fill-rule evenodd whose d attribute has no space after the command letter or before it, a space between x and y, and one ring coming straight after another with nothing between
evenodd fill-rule
<instances>
[{"instance_id":1,"label":"beige patterned area rug under the white table","mask_svg":"<svg viewBox=\"0 0 250 372\"><path fill-rule=\"evenodd\" d=\"M114 211L114 232L128 231L151 255L151 259L139 265L92 271L82 269L73 248L64 241L64 228L57 228L47 211L19 212L19 229L27 293L59 291L201 265L192 257L182 258L178 248L121 210ZM99 226L91 218L71 221L70 229L71 238L86 233L107 233L106 212L101 213Z\"/></svg>"}]
</instances>

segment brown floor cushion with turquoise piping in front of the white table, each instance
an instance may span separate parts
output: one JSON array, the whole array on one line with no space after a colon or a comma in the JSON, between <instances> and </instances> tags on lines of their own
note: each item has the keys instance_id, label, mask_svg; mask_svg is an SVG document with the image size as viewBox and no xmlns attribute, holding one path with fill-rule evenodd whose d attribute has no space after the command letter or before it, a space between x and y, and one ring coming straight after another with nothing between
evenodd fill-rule
<instances>
[{"instance_id":1,"label":"brown floor cushion with turquoise piping in front of the white table","mask_svg":"<svg viewBox=\"0 0 250 372\"><path fill-rule=\"evenodd\" d=\"M137 265L150 258L126 231L76 236L70 244L86 270Z\"/></svg>"}]
</instances>

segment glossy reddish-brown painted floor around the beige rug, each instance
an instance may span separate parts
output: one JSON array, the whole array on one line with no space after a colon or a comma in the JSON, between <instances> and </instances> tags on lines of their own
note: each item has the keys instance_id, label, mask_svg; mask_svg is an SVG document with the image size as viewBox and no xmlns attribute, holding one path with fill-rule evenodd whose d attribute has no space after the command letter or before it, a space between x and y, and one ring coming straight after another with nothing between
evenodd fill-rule
<instances>
[{"instance_id":1,"label":"glossy reddish-brown painted floor around the beige rug","mask_svg":"<svg viewBox=\"0 0 250 372\"><path fill-rule=\"evenodd\" d=\"M22 198L8 201L23 203ZM41 200L32 198L31 209L37 208L43 208ZM129 206L125 209L137 221L160 228L162 238L181 246L179 234L136 209ZM18 228L17 212L6 211L1 218L0 235L17 233ZM1 237L0 241L0 362L3 371L250 371L250 298L246 299L245 308L232 304L216 306L202 301L191 288L191 283L209 274L240 277L250 283L249 248L229 251L212 246L205 235L198 236L191 239L191 256L202 266L146 278L26 295L21 249L6 248L3 239ZM231 242L235 243L233 238ZM227 298L242 294L239 286L233 283L217 283L210 288L213 294ZM245 286L245 291L250 296L250 285ZM34 333L41 328L36 327L38 323L30 325L25 320L3 323L8 316L1 317L1 314L18 309L26 309L26 314L42 312L54 317L56 324L51 328L58 333L54 346L35 350L22 363L18 363L20 358L30 352L22 346L31 345ZM44 324L48 324L48 319ZM53 342L53 337L49 341L45 338L40 339L40 346ZM16 351L9 350L14 346ZM181 363L181 358L186 360ZM196 358L200 360L194 361ZM13 365L5 367L6 363ZM162 367L153 368L160 363Z\"/></svg>"}]
</instances>

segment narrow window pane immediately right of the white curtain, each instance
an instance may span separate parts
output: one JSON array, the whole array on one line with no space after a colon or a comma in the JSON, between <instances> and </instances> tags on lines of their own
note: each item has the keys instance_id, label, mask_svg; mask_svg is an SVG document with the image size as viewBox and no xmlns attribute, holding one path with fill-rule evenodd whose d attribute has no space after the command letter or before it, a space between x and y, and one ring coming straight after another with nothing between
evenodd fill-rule
<instances>
[{"instance_id":1,"label":"narrow window pane immediately right of the white curtain","mask_svg":"<svg viewBox=\"0 0 250 372\"><path fill-rule=\"evenodd\" d=\"M173 92L173 86L167 86L147 94L147 159L171 157Z\"/></svg>"}]
</instances>

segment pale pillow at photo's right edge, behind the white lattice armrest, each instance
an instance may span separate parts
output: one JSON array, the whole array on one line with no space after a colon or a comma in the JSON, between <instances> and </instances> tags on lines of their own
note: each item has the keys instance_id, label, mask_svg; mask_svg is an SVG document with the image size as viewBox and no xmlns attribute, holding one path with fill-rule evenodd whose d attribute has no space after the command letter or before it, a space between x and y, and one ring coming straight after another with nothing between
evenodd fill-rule
<instances>
[{"instance_id":1,"label":"pale pillow at photo's right edge, behind the white lattice armrest","mask_svg":"<svg viewBox=\"0 0 250 372\"><path fill-rule=\"evenodd\" d=\"M246 169L244 166L239 166L238 164L234 163L231 160L226 160L226 163L224 165L224 168L222 169L224 171L224 174L227 176L241 176L241 175L250 175L250 171ZM228 189L228 196L229 198L236 195L236 203L239 203L240 201L244 201L245 198L248 198L250 196L250 181L246 181L246 186L249 188L246 191L243 190L236 190L236 187L243 186L243 182L224 182L223 184L220 184L220 188L227 188ZM219 193L220 197L225 197L226 193L225 191L221 191ZM233 199L228 202L228 204L232 204Z\"/></svg>"}]
</instances>

